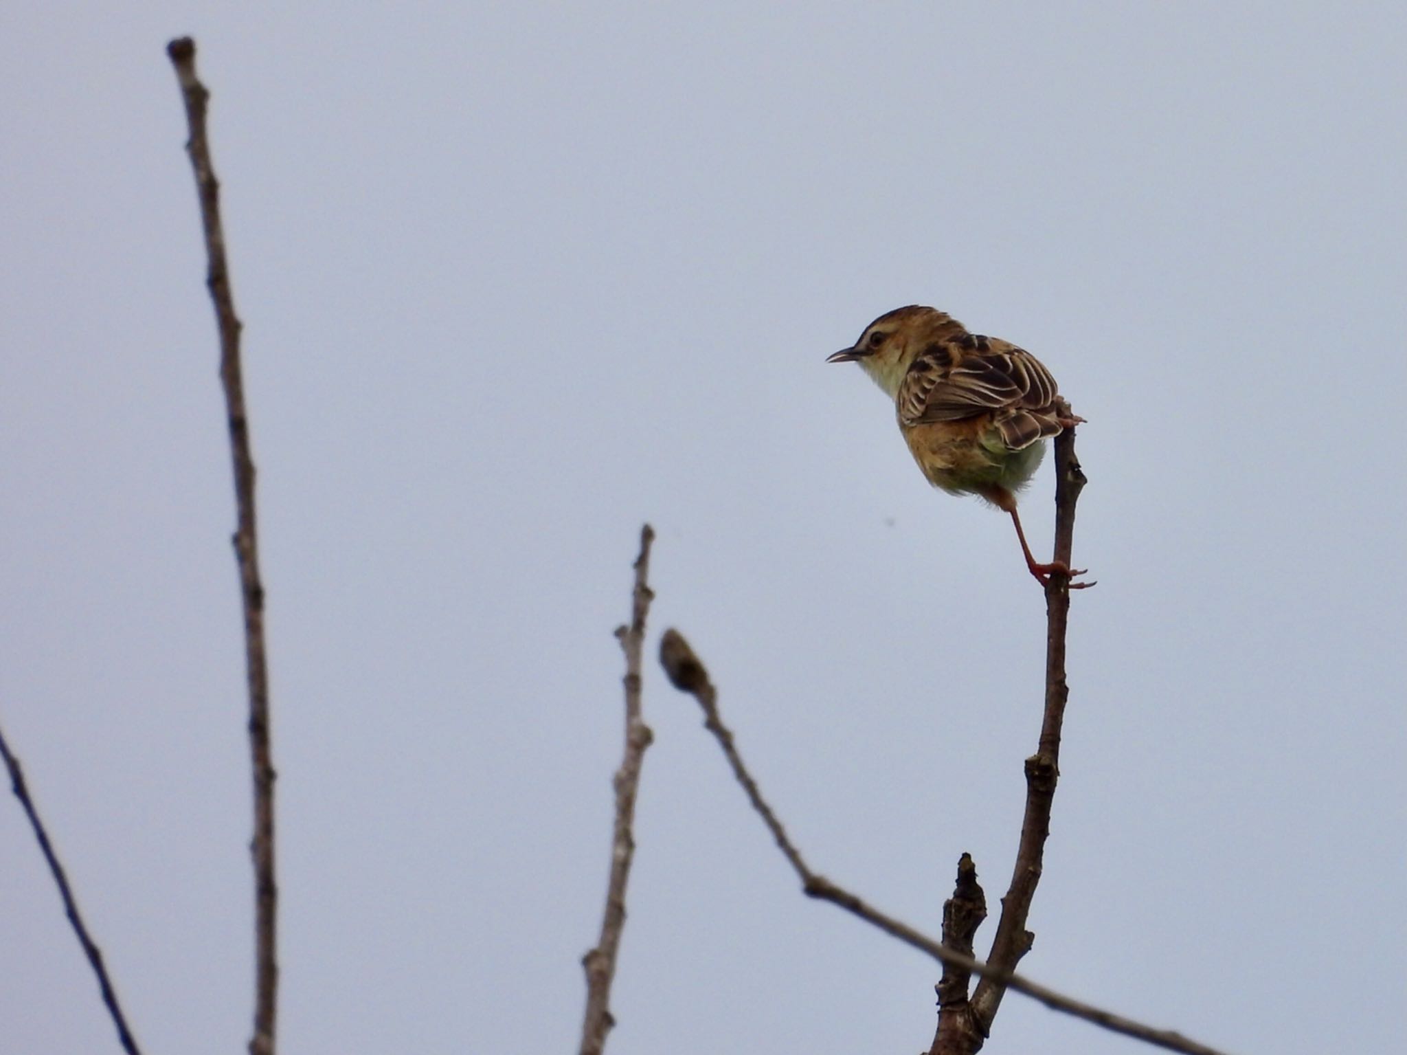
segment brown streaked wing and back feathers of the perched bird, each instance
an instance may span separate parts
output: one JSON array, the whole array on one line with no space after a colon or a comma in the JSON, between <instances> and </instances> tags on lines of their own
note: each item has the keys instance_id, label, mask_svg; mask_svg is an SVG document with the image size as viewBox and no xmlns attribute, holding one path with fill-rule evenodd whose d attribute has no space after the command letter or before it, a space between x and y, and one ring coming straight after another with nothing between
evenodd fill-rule
<instances>
[{"instance_id":1,"label":"brown streaked wing and back feathers of the perched bird","mask_svg":"<svg viewBox=\"0 0 1407 1055\"><path fill-rule=\"evenodd\" d=\"M913 428L1003 408L1043 411L1055 402L1055 378L1030 352L967 333L920 352L896 402L899 422Z\"/></svg>"}]
</instances>

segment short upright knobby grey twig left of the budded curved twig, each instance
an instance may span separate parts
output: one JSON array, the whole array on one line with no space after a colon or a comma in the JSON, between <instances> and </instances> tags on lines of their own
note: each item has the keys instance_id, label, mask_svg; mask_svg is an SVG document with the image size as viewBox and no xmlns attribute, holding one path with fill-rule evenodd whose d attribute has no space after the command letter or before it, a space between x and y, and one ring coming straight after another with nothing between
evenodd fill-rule
<instances>
[{"instance_id":1,"label":"short upright knobby grey twig left of the budded curved twig","mask_svg":"<svg viewBox=\"0 0 1407 1055\"><path fill-rule=\"evenodd\" d=\"M635 859L635 799L640 789L640 767L653 733L644 724L640 708L640 665L644 650L644 620L654 592L649 585L650 543L654 530L640 529L640 556L635 558L635 589L630 595L630 625L616 627L625 651L625 757L615 779L615 826L611 837L611 881L606 907L601 919L601 938L581 958L587 971L587 1013L581 1024L581 1055L601 1055L606 1032L615 1025L611 1016L611 983L615 980L620 931L625 930L625 888Z\"/></svg>"}]
</instances>

